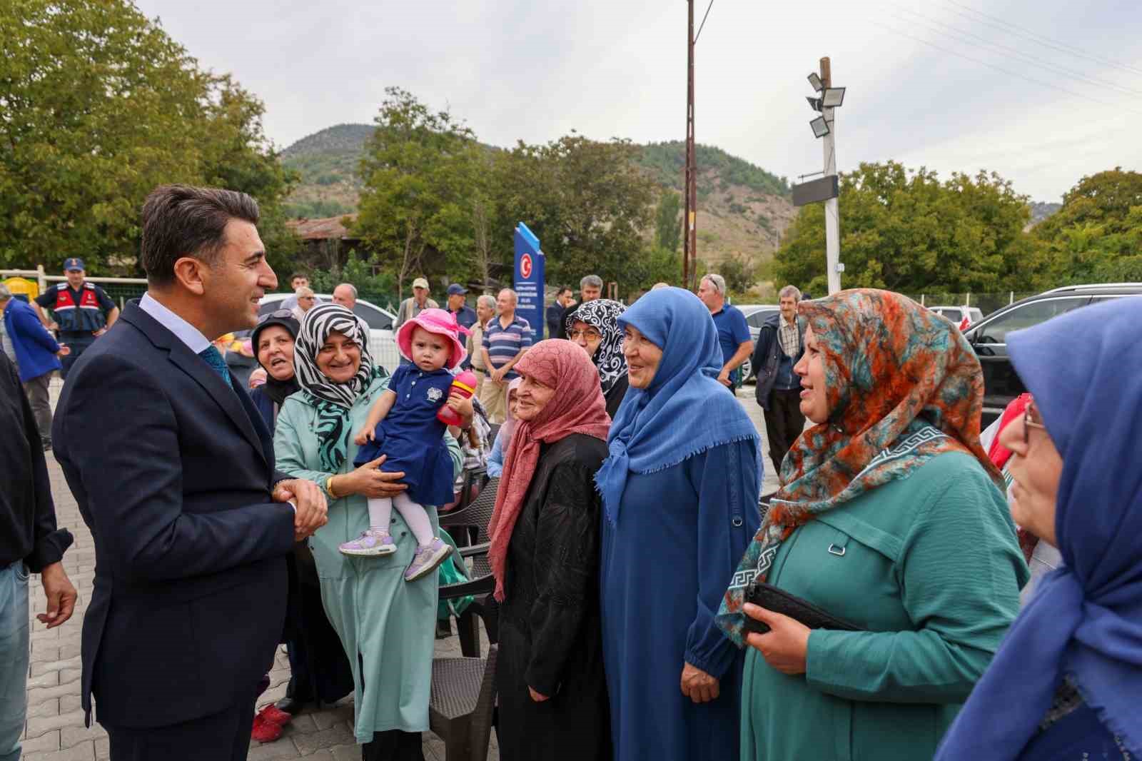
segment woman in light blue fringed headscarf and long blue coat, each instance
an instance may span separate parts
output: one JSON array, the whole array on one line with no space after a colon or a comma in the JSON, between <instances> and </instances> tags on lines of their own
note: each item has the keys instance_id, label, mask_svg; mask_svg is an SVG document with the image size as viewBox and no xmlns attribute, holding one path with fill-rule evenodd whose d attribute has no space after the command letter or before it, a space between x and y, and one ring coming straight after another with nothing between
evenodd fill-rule
<instances>
[{"instance_id":1,"label":"woman in light blue fringed headscarf and long blue coat","mask_svg":"<svg viewBox=\"0 0 1142 761\"><path fill-rule=\"evenodd\" d=\"M742 658L714 614L761 522L757 430L697 296L654 290L618 322L630 391L596 475L614 760L737 760Z\"/></svg>"}]
</instances>

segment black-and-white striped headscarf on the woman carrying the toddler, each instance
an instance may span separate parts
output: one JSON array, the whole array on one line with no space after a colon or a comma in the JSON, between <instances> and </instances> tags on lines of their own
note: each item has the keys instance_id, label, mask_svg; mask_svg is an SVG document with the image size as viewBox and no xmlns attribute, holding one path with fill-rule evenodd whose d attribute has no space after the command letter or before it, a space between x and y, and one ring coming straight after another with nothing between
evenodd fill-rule
<instances>
[{"instance_id":1,"label":"black-and-white striped headscarf on the woman carrying the toddler","mask_svg":"<svg viewBox=\"0 0 1142 761\"><path fill-rule=\"evenodd\" d=\"M317 369L317 352L331 333L339 333L361 347L361 367L345 383L333 383ZM314 306L305 313L293 344L293 370L306 401L317 410L321 468L336 473L345 462L348 448L349 409L375 377L384 377L384 370L373 366L372 354L369 353L368 326L340 304Z\"/></svg>"}]
</instances>

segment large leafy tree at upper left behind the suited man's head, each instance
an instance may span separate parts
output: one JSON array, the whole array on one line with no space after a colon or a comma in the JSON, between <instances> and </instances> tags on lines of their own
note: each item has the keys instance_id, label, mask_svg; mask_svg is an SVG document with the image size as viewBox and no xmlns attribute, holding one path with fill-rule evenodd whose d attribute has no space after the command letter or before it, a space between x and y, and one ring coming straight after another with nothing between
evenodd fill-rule
<instances>
[{"instance_id":1,"label":"large leafy tree at upper left behind the suited man's head","mask_svg":"<svg viewBox=\"0 0 1142 761\"><path fill-rule=\"evenodd\" d=\"M79 255L95 273L137 270L143 199L172 182L251 193L278 240L290 176L260 102L132 3L11 0L0 39L0 263L55 269Z\"/></svg>"}]
</instances>

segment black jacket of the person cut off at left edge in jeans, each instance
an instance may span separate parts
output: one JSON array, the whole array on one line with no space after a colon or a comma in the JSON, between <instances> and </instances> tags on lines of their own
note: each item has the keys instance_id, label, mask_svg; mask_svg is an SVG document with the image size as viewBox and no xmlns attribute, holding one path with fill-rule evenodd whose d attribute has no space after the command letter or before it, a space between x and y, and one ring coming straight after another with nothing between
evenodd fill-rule
<instances>
[{"instance_id":1,"label":"black jacket of the person cut off at left edge in jeans","mask_svg":"<svg viewBox=\"0 0 1142 761\"><path fill-rule=\"evenodd\" d=\"M0 568L17 560L39 574L71 546L56 507L32 408L8 355L0 352Z\"/></svg>"}]
</instances>

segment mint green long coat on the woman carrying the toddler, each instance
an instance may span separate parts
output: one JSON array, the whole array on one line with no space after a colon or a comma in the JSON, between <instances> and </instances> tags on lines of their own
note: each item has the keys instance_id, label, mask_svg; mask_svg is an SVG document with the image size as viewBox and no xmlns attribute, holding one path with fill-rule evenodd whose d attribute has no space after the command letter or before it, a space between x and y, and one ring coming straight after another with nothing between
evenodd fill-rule
<instances>
[{"instance_id":1,"label":"mint green long coat on the woman carrying the toddler","mask_svg":"<svg viewBox=\"0 0 1142 761\"><path fill-rule=\"evenodd\" d=\"M364 425L369 408L387 387L387 378L375 380L349 411L348 454L338 473L353 470L357 450L353 434ZM304 399L304 394L297 393L282 404L274 431L274 455L278 470L314 481L324 489L325 479L332 473L320 470L314 433L317 412ZM452 436L445 434L444 439L459 474L460 448ZM436 508L426 508L436 529ZM325 615L341 638L353 666L357 743L369 743L373 732L389 729L407 732L428 729L436 622L437 575L429 574L412 583L404 580L404 569L412 561L417 542L396 510L392 527L395 553L384 558L351 558L337 551L337 545L368 527L365 498L353 495L330 499L329 522L309 538Z\"/></svg>"}]
</instances>

